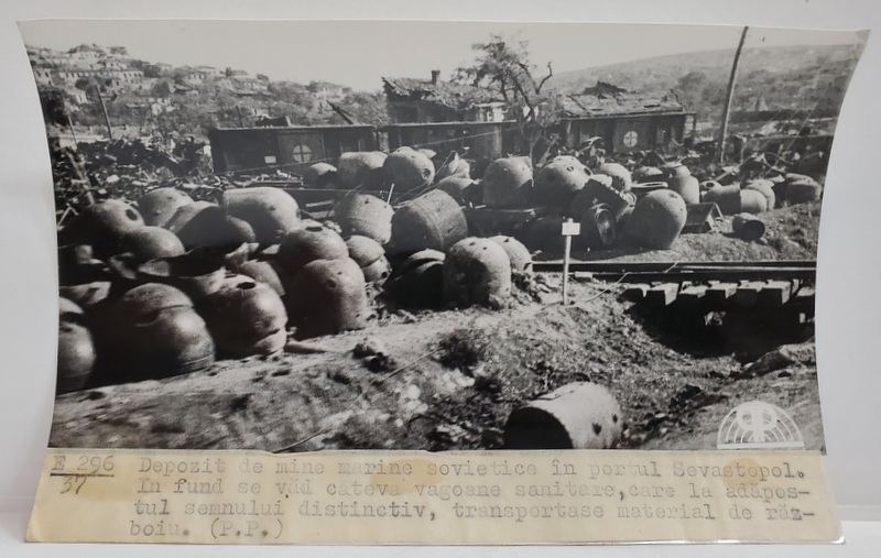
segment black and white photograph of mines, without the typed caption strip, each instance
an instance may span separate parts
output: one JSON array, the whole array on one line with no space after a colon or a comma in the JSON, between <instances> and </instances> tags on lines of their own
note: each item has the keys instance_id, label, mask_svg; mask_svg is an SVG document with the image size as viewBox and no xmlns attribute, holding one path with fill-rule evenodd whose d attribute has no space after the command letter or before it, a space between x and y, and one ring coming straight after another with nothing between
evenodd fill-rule
<instances>
[{"instance_id":1,"label":"black and white photograph of mines, without the typed caption strip","mask_svg":"<svg viewBox=\"0 0 881 558\"><path fill-rule=\"evenodd\" d=\"M20 31L51 447L825 451L820 208L864 32Z\"/></svg>"}]
</instances>

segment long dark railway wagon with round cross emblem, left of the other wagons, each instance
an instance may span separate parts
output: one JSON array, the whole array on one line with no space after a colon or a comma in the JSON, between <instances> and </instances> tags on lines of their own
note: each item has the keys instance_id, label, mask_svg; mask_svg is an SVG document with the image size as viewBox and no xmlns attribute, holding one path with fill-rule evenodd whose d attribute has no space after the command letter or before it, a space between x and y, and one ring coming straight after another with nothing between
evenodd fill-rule
<instances>
[{"instance_id":1,"label":"long dark railway wagon with round cross emblem, left of the other wagons","mask_svg":"<svg viewBox=\"0 0 881 558\"><path fill-rule=\"evenodd\" d=\"M302 174L318 161L336 164L342 153L379 149L370 124L220 128L208 138L216 173L280 168Z\"/></svg>"}]
</instances>

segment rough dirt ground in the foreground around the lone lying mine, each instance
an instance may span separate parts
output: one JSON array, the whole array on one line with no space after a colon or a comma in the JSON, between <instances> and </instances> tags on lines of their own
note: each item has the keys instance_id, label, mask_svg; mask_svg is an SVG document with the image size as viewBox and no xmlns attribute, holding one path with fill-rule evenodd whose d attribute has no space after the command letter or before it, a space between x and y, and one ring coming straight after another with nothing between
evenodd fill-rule
<instances>
[{"instance_id":1,"label":"rough dirt ground in the foreground around the lone lying mine","mask_svg":"<svg viewBox=\"0 0 881 558\"><path fill-rule=\"evenodd\" d=\"M668 251L580 255L813 259L818 218L819 204L795 206L765 214L760 242L733 238L728 218L714 232L682 236ZM760 353L744 358L730 344L672 333L621 300L623 285L579 275L570 283L573 304L564 307L561 282L552 273L519 281L500 310L409 313L380 304L367 329L289 343L278 357L218 361L162 381L63 395L50 444L494 449L513 408L566 383L591 381L609 387L622 406L619 447L713 449L725 415L761 400L790 412L809 449L824 449L813 340L795 358L750 368ZM356 351L358 344L366 347Z\"/></svg>"}]
</instances>

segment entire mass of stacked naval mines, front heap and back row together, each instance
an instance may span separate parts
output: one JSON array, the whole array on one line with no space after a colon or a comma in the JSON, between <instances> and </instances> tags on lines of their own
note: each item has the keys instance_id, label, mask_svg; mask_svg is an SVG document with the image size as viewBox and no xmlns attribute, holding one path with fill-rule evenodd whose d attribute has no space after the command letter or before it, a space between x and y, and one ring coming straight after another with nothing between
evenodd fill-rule
<instances>
[{"instance_id":1,"label":"entire mass of stacked naval mines, front heap and back row together","mask_svg":"<svg viewBox=\"0 0 881 558\"><path fill-rule=\"evenodd\" d=\"M324 222L267 186L228 188L216 201L160 187L85 207L58 231L59 389L272 354L290 328L297 338L362 328L380 294L410 308L501 306L532 252L562 251L566 219L581 223L576 248L623 239L666 249L689 205L754 214L820 193L801 175L699 185L677 163L591 171L572 156L536 172L525 157L500 158L476 179L456 154L437 165L431 155L401 147L312 166L311 186L348 192ZM533 218L478 238L479 208Z\"/></svg>"}]
</instances>

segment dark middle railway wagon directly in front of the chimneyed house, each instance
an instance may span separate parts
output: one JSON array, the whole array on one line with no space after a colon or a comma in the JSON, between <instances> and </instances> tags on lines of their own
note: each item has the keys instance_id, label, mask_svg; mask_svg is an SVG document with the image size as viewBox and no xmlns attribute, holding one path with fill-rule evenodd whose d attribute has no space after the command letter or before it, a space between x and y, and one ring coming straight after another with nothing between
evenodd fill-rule
<instances>
[{"instance_id":1,"label":"dark middle railway wagon directly in front of the chimneyed house","mask_svg":"<svg viewBox=\"0 0 881 558\"><path fill-rule=\"evenodd\" d=\"M412 122L383 127L389 149L429 147L440 155L450 151L469 158L492 161L516 150L516 122Z\"/></svg>"}]
</instances>

